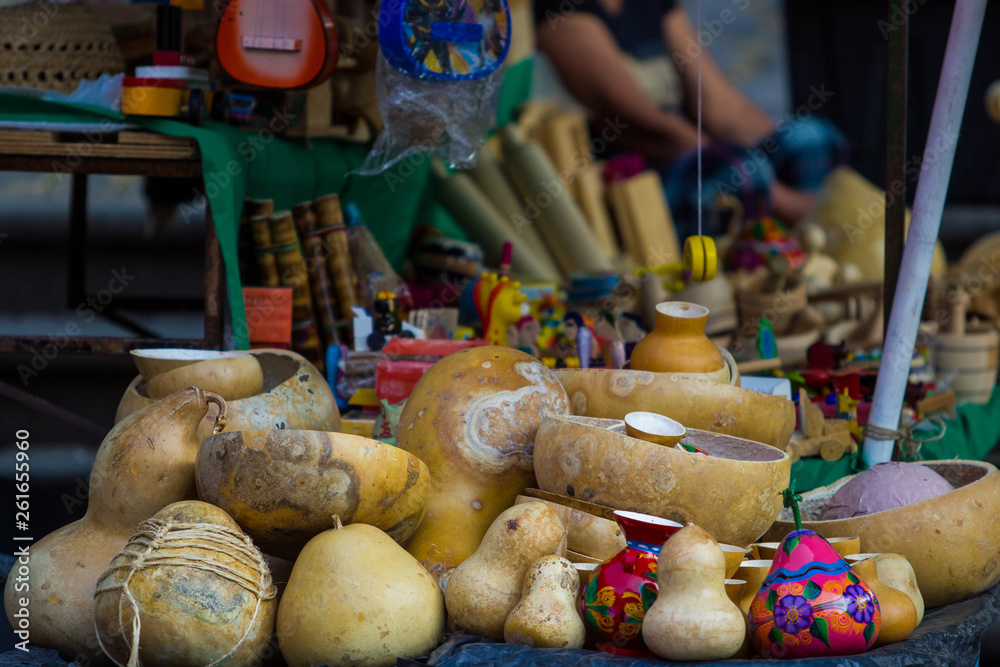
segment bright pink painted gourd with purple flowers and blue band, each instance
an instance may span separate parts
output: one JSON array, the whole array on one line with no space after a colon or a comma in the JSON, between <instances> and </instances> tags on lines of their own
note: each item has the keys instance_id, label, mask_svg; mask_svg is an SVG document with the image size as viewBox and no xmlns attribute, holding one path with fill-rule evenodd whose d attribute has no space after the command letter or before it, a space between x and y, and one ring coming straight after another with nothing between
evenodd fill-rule
<instances>
[{"instance_id":1,"label":"bright pink painted gourd with purple flowers and blue band","mask_svg":"<svg viewBox=\"0 0 1000 667\"><path fill-rule=\"evenodd\" d=\"M749 617L754 648L765 658L863 653L881 627L871 588L811 530L782 540Z\"/></svg>"}]
</instances>

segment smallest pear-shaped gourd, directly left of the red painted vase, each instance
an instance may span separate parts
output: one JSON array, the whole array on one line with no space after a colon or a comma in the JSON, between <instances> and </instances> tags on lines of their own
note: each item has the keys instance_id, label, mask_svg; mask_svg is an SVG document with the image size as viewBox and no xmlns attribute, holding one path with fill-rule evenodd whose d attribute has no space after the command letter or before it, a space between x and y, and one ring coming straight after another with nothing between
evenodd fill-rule
<instances>
[{"instance_id":1,"label":"smallest pear-shaped gourd, directly left of the red painted vase","mask_svg":"<svg viewBox=\"0 0 1000 667\"><path fill-rule=\"evenodd\" d=\"M562 556L542 556L528 568L521 601L503 624L508 644L582 648L587 631L576 611L580 577Z\"/></svg>"}]
</instances>

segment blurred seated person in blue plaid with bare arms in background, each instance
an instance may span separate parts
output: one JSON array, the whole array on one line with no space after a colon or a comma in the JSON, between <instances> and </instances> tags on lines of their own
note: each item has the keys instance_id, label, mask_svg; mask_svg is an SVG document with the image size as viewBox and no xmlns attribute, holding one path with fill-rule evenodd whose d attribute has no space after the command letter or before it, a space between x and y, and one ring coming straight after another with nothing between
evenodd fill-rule
<instances>
[{"instance_id":1,"label":"blurred seated person in blue plaid with bare arms in background","mask_svg":"<svg viewBox=\"0 0 1000 667\"><path fill-rule=\"evenodd\" d=\"M729 11L749 2L733 0ZM727 231L711 228L708 215L723 193L739 198L748 218L800 221L826 175L847 161L847 142L828 121L789 116L776 126L733 86L676 0L535 0L534 12L538 49L563 86L595 127L621 129L609 152L637 152L659 171L681 239L697 233L699 50L706 234ZM816 108L824 95L818 89Z\"/></svg>"}]
</instances>

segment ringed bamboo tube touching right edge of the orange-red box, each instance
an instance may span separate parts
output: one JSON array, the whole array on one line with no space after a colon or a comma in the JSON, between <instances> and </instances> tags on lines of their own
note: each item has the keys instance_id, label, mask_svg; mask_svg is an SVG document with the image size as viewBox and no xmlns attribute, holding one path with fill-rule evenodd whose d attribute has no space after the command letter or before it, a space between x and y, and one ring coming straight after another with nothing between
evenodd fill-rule
<instances>
[{"instance_id":1,"label":"ringed bamboo tube touching right edge of the orange-red box","mask_svg":"<svg viewBox=\"0 0 1000 667\"><path fill-rule=\"evenodd\" d=\"M323 354L309 291L309 274L290 211L268 217L280 284L292 288L292 347L323 371Z\"/></svg>"}]
</instances>

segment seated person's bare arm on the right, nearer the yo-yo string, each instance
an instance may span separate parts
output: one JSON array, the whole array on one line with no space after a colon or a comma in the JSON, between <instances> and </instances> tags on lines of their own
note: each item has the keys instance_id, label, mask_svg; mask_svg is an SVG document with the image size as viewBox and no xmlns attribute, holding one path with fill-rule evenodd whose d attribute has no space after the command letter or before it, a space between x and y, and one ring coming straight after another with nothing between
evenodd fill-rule
<instances>
[{"instance_id":1,"label":"seated person's bare arm on the right, nearer the yo-yo string","mask_svg":"<svg viewBox=\"0 0 1000 667\"><path fill-rule=\"evenodd\" d=\"M675 9L663 19L667 51L684 87L684 104L692 118L698 103L698 45L687 12ZM753 146L774 132L760 107L733 86L709 54L701 49L702 131L741 146Z\"/></svg>"}]
</instances>

